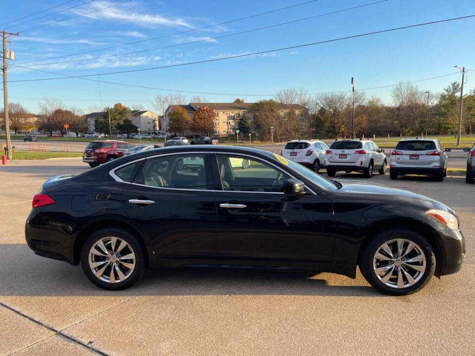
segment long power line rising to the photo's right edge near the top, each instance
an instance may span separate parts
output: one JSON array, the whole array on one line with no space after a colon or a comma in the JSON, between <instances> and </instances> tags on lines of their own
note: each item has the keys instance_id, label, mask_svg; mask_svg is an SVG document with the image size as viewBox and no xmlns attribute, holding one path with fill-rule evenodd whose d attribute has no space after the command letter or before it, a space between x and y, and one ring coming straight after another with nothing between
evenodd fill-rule
<instances>
[{"instance_id":1,"label":"long power line rising to the photo's right edge near the top","mask_svg":"<svg viewBox=\"0 0 475 356\"><path fill-rule=\"evenodd\" d=\"M408 29L408 28L421 27L421 26L426 26L426 25L433 25L433 24L436 24L436 23L442 23L442 22L448 22L448 21L455 21L455 20L467 19L467 18L471 18L471 17L475 17L475 15L454 17L454 18L449 18L449 19L444 19L444 20L438 20L438 21L431 21L431 22L420 23L420 24L416 24L416 25L407 25L407 26L396 27L396 28L387 29L387 30L373 31L373 32L367 32L367 33L358 34L358 35L352 35L352 36L346 36L346 37L339 37L339 38L332 39L332 40L324 40L324 41L313 42L313 43L304 44L304 45L293 45L293 46L282 47L282 48L276 48L276 49L268 49L268 50L259 51L259 52L237 54L237 55L232 55L232 56L227 56L227 57L221 57L221 58L205 59L205 60L194 61L194 62L187 62L187 63L170 64L170 65L160 66L160 67L142 68L142 69L129 69L129 70L125 70L125 71L107 72L107 73L96 73L96 74L86 74L86 75L81 75L81 76L69 76L69 77L70 77L70 78L87 78L87 77L95 77L95 76L97 76L97 75L101 75L101 76L102 76L102 75L111 75L111 74L135 73L135 72L144 72L144 71L155 70L155 69L164 69L164 68L172 68L172 67L183 67L183 66L187 66L187 65L191 65L191 64L201 64L201 63L217 62L217 61L222 61L222 60L226 60L226 59L243 58L243 57L249 57L249 56L254 56L254 55L258 55L258 54L265 54L265 53L272 53L272 52L283 51L283 50L287 50L287 49L308 47L308 46L311 46L311 45L321 45L321 44L325 44L325 43L331 43L331 42L337 42L337 41L342 41L342 40L349 40L349 39L354 39L354 38L359 38L359 37L365 37L365 36L371 36L371 35L386 33L386 32L404 30L404 29ZM67 78L62 77L62 78L24 79L24 80L16 80L16 81L9 81L9 82L10 82L10 83L37 82L37 81L57 80L57 79L67 79Z\"/></svg>"}]
</instances>

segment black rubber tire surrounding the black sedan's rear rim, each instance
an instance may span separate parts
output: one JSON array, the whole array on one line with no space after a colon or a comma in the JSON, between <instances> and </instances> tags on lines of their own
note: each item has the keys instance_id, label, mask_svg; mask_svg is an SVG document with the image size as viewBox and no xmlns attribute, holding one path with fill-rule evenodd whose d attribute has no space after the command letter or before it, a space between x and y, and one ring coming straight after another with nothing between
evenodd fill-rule
<instances>
[{"instance_id":1,"label":"black rubber tire surrounding the black sedan's rear rim","mask_svg":"<svg viewBox=\"0 0 475 356\"><path fill-rule=\"evenodd\" d=\"M95 276L91 267L89 266L89 253L91 251L91 248L98 240L110 236L114 236L126 241L132 248L132 252L135 255L135 267L130 273L130 275L128 275L125 280L116 283L110 283L99 279ZM116 247L118 248L118 246ZM108 263L106 263L106 265L108 265ZM89 280L93 282L96 286L107 290L126 289L142 278L143 272L145 271L146 267L145 252L143 251L142 245L139 243L139 241L137 241L137 238L129 231L116 227L103 228L93 232L84 242L81 249L81 267L83 268L83 271L89 278ZM105 276L107 276L108 274L107 268L110 267L106 267L106 271L103 273L103 275ZM118 275L117 272L114 273L115 275Z\"/></svg>"}]
</instances>

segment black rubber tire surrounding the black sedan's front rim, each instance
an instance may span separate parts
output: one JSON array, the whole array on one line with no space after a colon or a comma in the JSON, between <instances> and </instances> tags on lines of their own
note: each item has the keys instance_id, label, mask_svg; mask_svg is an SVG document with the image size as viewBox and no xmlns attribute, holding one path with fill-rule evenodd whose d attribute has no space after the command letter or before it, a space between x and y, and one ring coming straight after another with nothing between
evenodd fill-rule
<instances>
[{"instance_id":1,"label":"black rubber tire surrounding the black sedan's front rim","mask_svg":"<svg viewBox=\"0 0 475 356\"><path fill-rule=\"evenodd\" d=\"M378 252L380 249L381 245L384 244L384 242L389 242L390 240L398 239L398 238L403 238L405 240L411 241L418 245L418 247L421 249L421 252L424 254L426 258L426 268L424 272L420 275L419 279L416 281L416 283L410 285L409 279L407 277L402 277L404 281L404 285L407 285L402 288L397 288L397 287L391 287L385 284L383 281L380 280L380 278L377 276L375 268L374 268L374 259L375 259L375 254ZM393 246L393 245L392 245ZM408 245L404 244L404 249L407 249ZM377 234L368 245L366 245L365 250L362 251L363 253L361 254L361 258L359 261L359 267L361 270L361 273L365 277L365 279L370 283L374 288L376 288L378 291L389 294L389 295L394 295L394 296L401 296L401 295L407 295L407 294L412 294L415 293L422 288L429 282L430 278L434 274L435 270L435 256L434 252L432 250L432 247L422 236L416 231L412 231L409 229L404 229L404 228L394 228L394 229L389 229L386 231L382 231L379 234ZM396 252L397 251L393 251ZM395 255L394 255L395 256ZM406 255L407 256L407 255ZM399 263L401 259L399 256ZM397 262L397 260L396 260ZM393 268L396 269L396 263L393 263ZM414 269L411 269L409 267L399 267L403 268L401 269L404 273L401 273L401 275L405 275L405 271L408 272L414 272ZM381 272L383 273L383 272ZM395 272L395 276L389 278L388 283L394 285L397 285L397 273ZM417 272L416 272L417 273ZM392 273L391 273L392 275ZM384 276L384 275L383 275ZM416 278L417 279L417 278ZM407 282L407 283L406 283Z\"/></svg>"}]
</instances>

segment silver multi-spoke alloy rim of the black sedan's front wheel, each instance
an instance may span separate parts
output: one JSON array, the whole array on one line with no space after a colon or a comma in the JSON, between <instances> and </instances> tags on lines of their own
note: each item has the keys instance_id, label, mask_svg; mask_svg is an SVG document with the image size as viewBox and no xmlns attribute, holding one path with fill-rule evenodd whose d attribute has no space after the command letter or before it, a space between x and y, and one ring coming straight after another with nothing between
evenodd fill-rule
<instances>
[{"instance_id":1,"label":"silver multi-spoke alloy rim of the black sedan's front wheel","mask_svg":"<svg viewBox=\"0 0 475 356\"><path fill-rule=\"evenodd\" d=\"M382 283L406 288L417 283L426 271L427 261L419 245L406 239L392 239L376 250L373 269Z\"/></svg>"}]
</instances>

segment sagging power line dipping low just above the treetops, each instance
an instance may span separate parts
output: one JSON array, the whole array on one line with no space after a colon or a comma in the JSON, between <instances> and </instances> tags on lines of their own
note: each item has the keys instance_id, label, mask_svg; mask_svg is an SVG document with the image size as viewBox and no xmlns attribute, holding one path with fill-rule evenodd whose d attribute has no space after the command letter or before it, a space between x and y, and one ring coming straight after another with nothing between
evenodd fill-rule
<instances>
[{"instance_id":1,"label":"sagging power line dipping low just above the treetops","mask_svg":"<svg viewBox=\"0 0 475 356\"><path fill-rule=\"evenodd\" d=\"M145 87L145 86L139 86L139 85L134 85L134 84L124 84L124 83L116 83L116 82L108 82L108 81L103 81L103 80L97 80L97 79L91 79L91 78L78 78L74 76L68 76L67 74L61 74L61 73L55 73L55 72L49 72L49 71L44 71L41 69L36 69L36 68L29 68L25 66L20 66L18 64L14 64L15 67L20 67L24 69L29 69L37 72L44 72L44 73L49 73L49 74L56 74L56 75L61 75L64 77L68 78L75 78L75 79L82 79L82 80L88 80L92 82L99 82L99 83L107 83L107 84L113 84L113 85L119 85L123 87L132 87L132 88L141 88L141 89L153 89L153 90L161 90L161 91L173 91L173 92L182 92L182 93L187 93L187 94L204 94L204 95L230 95L230 96L275 96L275 94L244 94L244 93L218 93L218 92L205 92L205 91L190 91L190 90L176 90L176 89L163 89L163 88L154 88L154 87ZM467 71L473 71L471 69L468 69ZM459 74L459 72L454 72L454 73L449 73L449 74L443 74L440 76L436 77L430 77L430 78L425 78L425 79L418 79L415 81L406 81L403 83L419 83L419 82L424 82L428 80L433 80L433 79L438 79L438 78L443 78L443 77L448 77L452 76L454 74ZM363 89L358 89L355 91L365 91L365 90L374 90L374 89L383 89L383 88L391 88L397 86L398 83L396 84L390 84L390 85L385 85L385 86L380 86L380 87L372 87L372 88L363 88ZM344 92L350 92L351 90L340 90L340 91L320 91L320 92L315 92L315 93L309 93L308 95L320 95L320 94L335 94L335 93L344 93Z\"/></svg>"}]
</instances>

